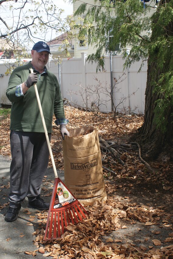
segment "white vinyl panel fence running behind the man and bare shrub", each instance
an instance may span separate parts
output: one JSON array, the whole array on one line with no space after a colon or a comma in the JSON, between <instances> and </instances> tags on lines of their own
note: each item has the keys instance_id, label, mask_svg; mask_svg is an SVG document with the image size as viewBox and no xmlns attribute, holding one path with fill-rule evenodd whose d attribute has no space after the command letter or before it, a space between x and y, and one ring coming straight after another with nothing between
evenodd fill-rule
<instances>
[{"instance_id":1,"label":"white vinyl panel fence running behind the man and bare shrub","mask_svg":"<svg viewBox=\"0 0 173 259\"><path fill-rule=\"evenodd\" d=\"M61 78L61 94L71 105L89 107L102 112L112 110L110 57L105 57L105 68L96 73L96 64L86 62L87 53L82 52L81 58L63 59L58 69L54 60L48 62L49 70ZM117 111L144 113L145 88L147 80L147 62L140 73L140 62L136 62L123 72L122 56L112 56L113 103ZM7 67L0 64L0 103L10 104L5 92L9 76L5 75Z\"/></svg>"}]
</instances>

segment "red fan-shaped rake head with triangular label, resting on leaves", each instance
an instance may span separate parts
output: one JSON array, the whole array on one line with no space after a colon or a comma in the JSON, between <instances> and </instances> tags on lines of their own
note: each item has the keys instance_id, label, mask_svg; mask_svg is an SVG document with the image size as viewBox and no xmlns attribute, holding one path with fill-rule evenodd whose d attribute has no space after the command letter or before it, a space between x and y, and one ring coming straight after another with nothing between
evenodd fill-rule
<instances>
[{"instance_id":1,"label":"red fan-shaped rake head with triangular label, resting on leaves","mask_svg":"<svg viewBox=\"0 0 173 259\"><path fill-rule=\"evenodd\" d=\"M61 188L59 187L61 186ZM58 195L62 195L60 192L63 190L71 194L70 200L60 202ZM44 240L51 240L61 237L65 232L65 227L69 223L75 224L86 218L88 213L79 203L79 201L73 196L70 190L62 183L59 178L55 179L54 189L50 202L50 209L47 217L47 225L44 235Z\"/></svg>"}]
</instances>

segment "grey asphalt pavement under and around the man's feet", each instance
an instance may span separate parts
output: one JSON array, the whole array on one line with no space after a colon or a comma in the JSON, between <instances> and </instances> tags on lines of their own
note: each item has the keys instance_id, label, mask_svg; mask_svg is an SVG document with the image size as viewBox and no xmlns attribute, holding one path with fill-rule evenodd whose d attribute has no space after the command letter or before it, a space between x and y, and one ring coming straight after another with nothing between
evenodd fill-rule
<instances>
[{"instance_id":1,"label":"grey asphalt pavement under and around the man's feet","mask_svg":"<svg viewBox=\"0 0 173 259\"><path fill-rule=\"evenodd\" d=\"M38 210L28 208L27 198L22 202L22 208L16 221L5 222L5 213L8 208L9 193L9 168L11 159L0 155L0 259L32 259L33 255L25 254L25 251L35 251L38 248L34 245L33 232L39 228L37 218L34 218L32 225L28 225L32 216L36 216ZM46 188L53 189L51 185L54 183L54 171L52 168L47 169L47 178L44 181L51 183ZM58 177L64 181L64 172L58 170ZM45 182L43 186L45 187ZM41 197L50 202L51 196L43 197L44 192L41 191ZM29 213L28 213L29 212ZM36 252L37 259L44 258L43 254ZM50 258L50 257L49 257ZM52 258L52 257L51 257Z\"/></svg>"}]
</instances>

